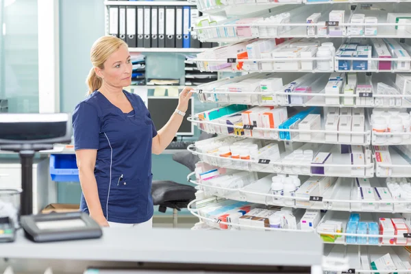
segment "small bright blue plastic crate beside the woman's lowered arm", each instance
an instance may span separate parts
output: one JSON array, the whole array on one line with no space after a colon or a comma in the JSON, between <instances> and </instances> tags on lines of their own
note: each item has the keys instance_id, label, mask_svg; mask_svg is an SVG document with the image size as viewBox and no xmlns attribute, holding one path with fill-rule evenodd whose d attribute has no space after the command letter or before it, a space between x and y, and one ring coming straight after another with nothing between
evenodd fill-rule
<instances>
[{"instance_id":1,"label":"small bright blue plastic crate beside the woman's lowered arm","mask_svg":"<svg viewBox=\"0 0 411 274\"><path fill-rule=\"evenodd\" d=\"M51 154L50 175L55 182L80 182L75 154Z\"/></svg>"}]
</instances>

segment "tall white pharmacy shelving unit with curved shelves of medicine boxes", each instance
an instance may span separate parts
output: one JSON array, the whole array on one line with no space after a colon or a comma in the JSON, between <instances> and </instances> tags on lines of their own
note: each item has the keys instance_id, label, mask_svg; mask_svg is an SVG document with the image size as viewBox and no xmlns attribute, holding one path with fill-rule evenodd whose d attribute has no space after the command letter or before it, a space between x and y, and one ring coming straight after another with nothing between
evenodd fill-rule
<instances>
[{"instance_id":1,"label":"tall white pharmacy shelving unit with curved shelves of medicine boxes","mask_svg":"<svg viewBox=\"0 0 411 274\"><path fill-rule=\"evenodd\" d=\"M397 38L404 45L407 53L411 53L411 47L406 45L405 38L411 38L411 21L406 23L388 23L386 20L380 20L386 16L386 12L401 12L403 9L408 9L411 12L411 3L408 0L347 0L347 1L310 1L310 0L286 0L286 1L275 1L275 2L262 2L256 1L258 3L250 3L250 1L202 1L197 0L197 7L204 13L210 16L210 21L215 19L215 23L212 25L206 25L201 27L194 27L199 33L201 40L206 42L239 42L245 41L253 38L319 38L321 42L327 42L333 40L334 43L341 45L345 42L347 38ZM246 3L247 2L247 3ZM218 3L218 4L216 4ZM387 10L377 10L373 7L373 3L378 3L384 5L388 8ZM321 12L327 16L329 10L346 10L351 12L355 10L355 5L369 5L369 10L366 11L366 16L371 16L375 13L378 18L378 23L367 24L377 27L378 32L376 36L329 36L325 35L313 35L308 36L306 28L310 26L322 27L322 24L313 23L307 24L303 22L308 16L314 12ZM390 10L391 9L391 10ZM282 12L290 12L290 23L233 23L236 19L245 19L250 17L266 17L275 14L280 14ZM404 11L405 12L405 11ZM217 16L223 16L221 14L229 15L229 19L219 20ZM323 14L323 15L324 15ZM216 16L216 17L213 17ZM324 20L322 16L320 21ZM345 21L340 23L340 26L352 26L354 24ZM358 24L356 24L358 25ZM361 25L361 24L359 24ZM364 24L363 24L364 25ZM403 29L397 29L396 27L402 26ZM234 35L231 37L221 37L221 29L232 27L234 29ZM271 36L259 36L258 32L253 32L252 36L238 36L235 29L236 27L253 27L254 29L258 27L275 27L282 29ZM219 30L219 32L217 32ZM216 35L220 33L219 35ZM336 48L337 48L336 47ZM410 54L411 55L411 54ZM259 69L258 71L253 71L253 66L247 66L247 64L263 64L264 62L301 62L301 61L314 61L322 62L327 61L332 62L332 69L327 71L320 70L319 68L313 67L312 70L275 70L273 68L269 69ZM351 70L340 70L338 67L338 62L341 61L352 61L352 60L366 60L369 62L369 66L364 71L351 71ZM403 59L404 60L404 59ZM406 58L406 60L411 61L411 58ZM203 151L199 149L199 142L196 145L188 147L188 151L197 155L202 162L210 164L210 166L219 166L226 169L229 172L235 171L247 171L250 175L254 176L256 179L250 184L221 184L216 183L214 179L201 180L195 176L195 173L188 175L188 181L193 184L197 184L198 188L202 192L207 192L211 195L211 199L215 201L223 201L224 199L257 203L266 206L285 206L290 208L295 208L295 217L298 223L297 229L279 229L275 227L249 227L247 225L239 225L232 222L226 222L221 219L212 219L201 215L199 211L199 205L203 203L203 200L196 199L188 205L188 209L192 214L199 217L199 219L212 227L212 229L262 229L262 230L291 230L296 233L314 233L318 234L325 240L325 259L323 263L323 271L327 273L410 273L411 266L407 264L402 264L403 268L399 268L395 271L393 270L382 270L371 269L371 262L384 256L386 253L390 253L395 263L406 262L411 263L410 252L411 252L411 241L408 237L408 229L406 234L399 233L394 236L382 236L380 235L379 228L377 229L377 234L366 231L363 232L347 232L345 228L347 226L347 221L351 213L359 213L361 216L361 221L364 222L378 222L379 218L399 218L406 219L406 222L410 223L411 217L411 196L408 197L406 193L401 193L398 195L397 192L390 192L389 199L386 197L384 199L375 199L373 201L362 199L358 195L358 186L364 180L369 182L372 188L388 189L389 185L397 184L396 178L402 178L401 183L410 182L409 177L411 177L411 149L408 145L411 145L411 133L410 132L374 132L373 131L373 110L390 108L394 110L406 110L411 108L411 95L406 93L406 86L397 89L397 92L393 92L389 95L380 94L377 89L378 82L393 83L390 77L387 75L393 75L395 73L409 73L410 71L403 70L397 67L397 62L400 59L392 58L392 66L390 69L379 68L378 63L382 61L382 58L377 58L377 56L372 56L369 58L343 58L343 57L333 57L333 58L284 58L270 60L267 58L261 59L236 59L232 56L221 56L221 58L210 59L207 55L199 55L193 61L197 62L197 66L201 71L219 71L219 72L233 72L242 73L241 76L234 78L236 79L247 79L248 77L253 77L253 75L264 75L264 77L282 77L286 79L284 85L301 77L305 73L316 73L319 76L319 81L316 82L315 87L308 94L305 92L295 92L286 93L283 90L278 90L275 92L264 92L256 90L242 90L241 92L232 92L229 88L224 85L233 82L233 78L229 77L226 79L219 79L216 82L204 84L197 86L195 92L199 100L203 103L220 103L221 105L229 104L245 104L245 105L270 105L270 106L286 106L286 107L320 107L320 108L351 108L352 110L363 109L364 110L364 130L360 132L342 132L338 130L327 130L324 127L325 121L321 121L321 129L317 130L301 130L301 129L266 129L262 127L253 127L252 130L256 132L262 132L257 134L258 137L245 137L234 135L241 129L247 129L242 125L227 125L219 121L205 121L204 119L199 119L198 115L193 115L188 118L189 121L195 123L201 130L218 134L218 138L237 138L241 140L242 138L258 138L262 140L270 140L270 142L277 142L277 144L282 143L303 143L304 146L314 146L316 145L315 151L329 152L333 153L333 162L315 165L311 162L293 161L290 162L288 155L292 153L290 150L282 149L279 145L279 160L267 161L264 159L251 158L251 159L233 159L226 157L221 157L217 153L209 153L208 151ZM239 69L241 64L242 67ZM262 67L262 66L259 66ZM334 72L354 72L358 73L358 79L366 79L372 87L370 97L367 92L362 94L354 92L352 95L338 94L329 95L325 93L325 85L327 80L321 80L321 77L328 79L328 75ZM290 75L296 75L295 78L290 79ZM324 76L325 75L325 76ZM401 92L402 90L402 92ZM327 97L339 97L337 100L339 103L330 104L327 103ZM282 101L284 97L309 97L303 102L292 102ZM347 105L342 103L345 99L352 99L353 103ZM227 129L238 129L227 130ZM229 133L228 133L229 132ZM280 132L289 132L292 136L288 140L284 140L280 136ZM335 134L335 136L340 136L340 134L351 134L353 136L361 136L360 141L353 142L353 140L332 140L329 141L325 138L326 134ZM310 140L306 138L301 138L300 134L307 136L310 134ZM358 139L356 139L358 140ZM200 141L203 142L203 141ZM268 142L268 141L267 141ZM343 145L358 145L361 146L364 151L370 151L371 159L365 164L353 164L349 161L349 155L343 153L338 153L343 149ZM297 146L299 147L299 146ZM301 147L300 147L301 149ZM334 154L334 152L336 152ZM382 161L381 155L384 153L390 153L390 162ZM380 153L380 154L379 154ZM314 153L315 155L315 153ZM334 158L334 155L336 157ZM379 155L379 156L377 156ZM385 155L384 155L385 157ZM321 166L324 168L325 177L334 178L334 185L326 190L321 197L295 197L295 196L284 196L275 195L271 189L271 177L273 173L286 173L288 175L298 175L301 180L301 184L305 182L312 176L318 175L318 173L313 172L313 168ZM360 173L357 173L360 171ZM198 174L197 174L198 175ZM247 175L248 176L248 175ZM389 188L390 189L390 188ZM381 194L381 197L383 195ZM305 210L321 210L321 221L316 227L313 227L311 231L301 230L301 214ZM342 223L342 232L335 231L324 231L321 229L323 223L329 221L336 221ZM373 231L375 232L375 231ZM358 234L357 234L358 233ZM334 240L327 241L327 236L332 236ZM269 237L269 234L268 236ZM353 240L356 239L356 240ZM341 266L343 265L343 269ZM399 267L399 266L398 266Z\"/></svg>"}]
</instances>

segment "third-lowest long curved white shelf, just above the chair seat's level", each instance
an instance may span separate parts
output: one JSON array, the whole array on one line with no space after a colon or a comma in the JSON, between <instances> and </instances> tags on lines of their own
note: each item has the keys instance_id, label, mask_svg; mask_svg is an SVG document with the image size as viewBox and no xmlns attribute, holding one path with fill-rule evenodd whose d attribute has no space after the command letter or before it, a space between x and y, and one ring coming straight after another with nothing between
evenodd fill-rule
<instances>
[{"instance_id":1,"label":"third-lowest long curved white shelf, just above the chair seat's level","mask_svg":"<svg viewBox=\"0 0 411 274\"><path fill-rule=\"evenodd\" d=\"M290 154L290 151L281 152L280 159L269 162L268 164L259 164L258 160L241 160L232 158L223 158L219 155L212 153L202 153L194 150L195 146L189 146L187 148L191 153L198 155L200 160L211 164L212 166L219 166L227 169L236 169L240 171L255 171L262 173L285 173L292 175L308 175L308 176L329 176L329 177L361 177L371 178L374 176L374 163L371 159L370 164L352 165L347 164L351 162L350 153L341 154L338 145L321 145L315 146L314 144L307 143L300 147L300 149L316 149L317 152L329 152L332 153L332 164L302 164L296 162L285 162L286 155ZM314 152L316 155L316 152ZM312 173L312 168L324 167L323 174ZM364 168L363 175L351 175L353 168ZM407 177L407 176L403 176ZM408 176L411 177L411 176Z\"/></svg>"}]
</instances>

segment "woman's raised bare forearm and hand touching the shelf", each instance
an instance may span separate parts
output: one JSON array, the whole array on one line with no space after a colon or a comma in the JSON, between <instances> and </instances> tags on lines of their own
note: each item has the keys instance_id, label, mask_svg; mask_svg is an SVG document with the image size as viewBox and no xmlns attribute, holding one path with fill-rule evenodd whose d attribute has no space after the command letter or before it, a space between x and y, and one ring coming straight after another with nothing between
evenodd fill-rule
<instances>
[{"instance_id":1,"label":"woman's raised bare forearm and hand touching the shelf","mask_svg":"<svg viewBox=\"0 0 411 274\"><path fill-rule=\"evenodd\" d=\"M188 108L188 101L192 95L193 88L185 87L180 93L178 99L177 110L186 112ZM168 145L170 145L179 127L182 125L184 117L176 112L171 115L169 121L158 131L157 136L153 138L153 145L151 146L151 152L154 154L160 154Z\"/></svg>"}]
</instances>

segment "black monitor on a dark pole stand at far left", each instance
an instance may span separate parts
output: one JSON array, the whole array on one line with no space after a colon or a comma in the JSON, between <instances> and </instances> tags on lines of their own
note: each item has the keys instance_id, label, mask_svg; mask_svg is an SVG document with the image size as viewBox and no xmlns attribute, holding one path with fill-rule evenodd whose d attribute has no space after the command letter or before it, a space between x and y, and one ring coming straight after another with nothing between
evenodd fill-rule
<instances>
[{"instance_id":1,"label":"black monitor on a dark pole stand at far left","mask_svg":"<svg viewBox=\"0 0 411 274\"><path fill-rule=\"evenodd\" d=\"M71 133L71 115L66 113L0 114L0 150L20 154L21 215L32 214L34 153L70 143Z\"/></svg>"}]
</instances>

